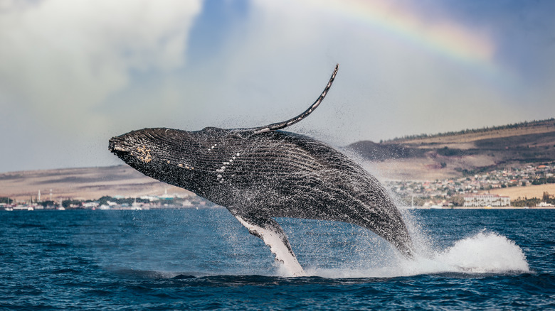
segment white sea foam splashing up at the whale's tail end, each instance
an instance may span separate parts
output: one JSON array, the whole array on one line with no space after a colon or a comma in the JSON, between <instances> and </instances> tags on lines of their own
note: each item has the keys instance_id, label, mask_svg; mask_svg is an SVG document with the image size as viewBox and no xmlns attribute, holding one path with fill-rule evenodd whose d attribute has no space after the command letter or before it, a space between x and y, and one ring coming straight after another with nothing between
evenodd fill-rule
<instances>
[{"instance_id":1,"label":"white sea foam splashing up at the whale's tail end","mask_svg":"<svg viewBox=\"0 0 555 311\"><path fill-rule=\"evenodd\" d=\"M526 273L529 266L513 241L492 232L461 239L447 249L421 249L413 260L397 258L369 269L307 269L324 278L392 278L436 273Z\"/></svg>"}]
</instances>

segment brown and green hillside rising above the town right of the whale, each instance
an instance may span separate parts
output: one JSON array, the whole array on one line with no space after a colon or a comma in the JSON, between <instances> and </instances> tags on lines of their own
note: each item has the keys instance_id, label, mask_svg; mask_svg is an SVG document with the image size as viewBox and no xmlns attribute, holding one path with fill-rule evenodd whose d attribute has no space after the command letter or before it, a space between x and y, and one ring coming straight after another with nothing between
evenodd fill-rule
<instances>
[{"instance_id":1,"label":"brown and green hillside rising above the town right of the whale","mask_svg":"<svg viewBox=\"0 0 555 311\"><path fill-rule=\"evenodd\" d=\"M454 178L512 163L555 160L555 119L347 146L393 180Z\"/></svg>"}]
</instances>

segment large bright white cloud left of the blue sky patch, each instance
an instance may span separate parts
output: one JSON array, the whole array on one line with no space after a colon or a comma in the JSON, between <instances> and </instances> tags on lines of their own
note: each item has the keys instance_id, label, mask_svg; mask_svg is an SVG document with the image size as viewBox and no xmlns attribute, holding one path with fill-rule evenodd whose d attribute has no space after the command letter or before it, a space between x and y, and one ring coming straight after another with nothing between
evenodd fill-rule
<instances>
[{"instance_id":1,"label":"large bright white cloud left of the blue sky patch","mask_svg":"<svg viewBox=\"0 0 555 311\"><path fill-rule=\"evenodd\" d=\"M92 126L134 72L184 65L200 1L1 1L0 92L53 124Z\"/></svg>"}]
</instances>

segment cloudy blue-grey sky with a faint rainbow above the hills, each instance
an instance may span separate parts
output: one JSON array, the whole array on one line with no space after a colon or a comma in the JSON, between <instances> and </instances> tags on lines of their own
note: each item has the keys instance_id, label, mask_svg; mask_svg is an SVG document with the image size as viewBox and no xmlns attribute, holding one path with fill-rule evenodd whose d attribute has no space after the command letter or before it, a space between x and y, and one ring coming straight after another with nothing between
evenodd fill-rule
<instances>
[{"instance_id":1,"label":"cloudy blue-grey sky with a faint rainbow above the hills","mask_svg":"<svg viewBox=\"0 0 555 311\"><path fill-rule=\"evenodd\" d=\"M134 129L332 146L555 116L555 1L0 0L0 173L118 165Z\"/></svg>"}]
</instances>

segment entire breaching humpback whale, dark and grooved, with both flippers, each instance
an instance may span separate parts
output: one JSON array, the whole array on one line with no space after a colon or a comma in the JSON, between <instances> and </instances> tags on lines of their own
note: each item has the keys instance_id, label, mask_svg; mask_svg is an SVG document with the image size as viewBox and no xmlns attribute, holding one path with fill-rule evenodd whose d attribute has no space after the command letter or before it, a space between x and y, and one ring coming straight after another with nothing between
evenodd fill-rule
<instances>
[{"instance_id":1,"label":"entire breaching humpback whale, dark and grooved, with both flippers","mask_svg":"<svg viewBox=\"0 0 555 311\"><path fill-rule=\"evenodd\" d=\"M381 183L325 143L280 131L312 113L252 129L142 129L110 139L109 150L149 177L227 207L270 246L292 275L305 275L275 217L348 222L370 229L411 258L401 214Z\"/></svg>"}]
</instances>

